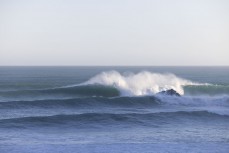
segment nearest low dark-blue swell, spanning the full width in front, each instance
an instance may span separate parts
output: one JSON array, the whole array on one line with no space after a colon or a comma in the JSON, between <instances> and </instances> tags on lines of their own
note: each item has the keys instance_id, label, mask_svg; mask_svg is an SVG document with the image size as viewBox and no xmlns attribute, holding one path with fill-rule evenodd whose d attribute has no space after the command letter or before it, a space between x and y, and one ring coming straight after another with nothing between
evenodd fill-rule
<instances>
[{"instance_id":1,"label":"nearest low dark-blue swell, spanning the full width in front","mask_svg":"<svg viewBox=\"0 0 229 153\"><path fill-rule=\"evenodd\" d=\"M21 117L0 120L0 128L16 127L41 127L41 126L67 126L95 128L104 126L123 126L123 125L138 125L138 126L159 126L160 123L169 123L174 121L182 121L184 119L193 119L195 121L203 119L211 121L213 118L229 121L229 115L222 115L216 112L209 111L177 111L177 112L157 112L157 113L126 113L126 114L110 114L110 113L85 113L85 114L70 114L70 115L54 115L54 116L36 116L36 117ZM183 123L183 121L182 121ZM89 126L90 125L90 126ZM59 127L59 126L58 126Z\"/></svg>"}]
</instances>

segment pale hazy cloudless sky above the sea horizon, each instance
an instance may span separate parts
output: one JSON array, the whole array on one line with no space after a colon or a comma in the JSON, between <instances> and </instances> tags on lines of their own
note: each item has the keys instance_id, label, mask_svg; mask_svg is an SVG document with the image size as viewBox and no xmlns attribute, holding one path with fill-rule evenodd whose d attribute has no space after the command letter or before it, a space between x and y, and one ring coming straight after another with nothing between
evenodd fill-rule
<instances>
[{"instance_id":1,"label":"pale hazy cloudless sky above the sea horizon","mask_svg":"<svg viewBox=\"0 0 229 153\"><path fill-rule=\"evenodd\" d=\"M0 65L229 65L229 1L0 0Z\"/></svg>"}]
</instances>

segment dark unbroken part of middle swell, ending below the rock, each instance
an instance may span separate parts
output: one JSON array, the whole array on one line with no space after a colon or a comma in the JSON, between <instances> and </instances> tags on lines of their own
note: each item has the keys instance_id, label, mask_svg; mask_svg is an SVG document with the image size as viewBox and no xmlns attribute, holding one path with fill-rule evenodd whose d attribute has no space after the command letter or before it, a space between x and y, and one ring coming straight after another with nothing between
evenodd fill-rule
<instances>
[{"instance_id":1,"label":"dark unbroken part of middle swell, ending below the rock","mask_svg":"<svg viewBox=\"0 0 229 153\"><path fill-rule=\"evenodd\" d=\"M55 100L35 100L35 101L11 101L0 102L0 109L24 109L24 108L91 108L95 107L153 107L159 105L161 102L158 98L153 96L147 97L85 97L85 98L71 98L71 99L55 99Z\"/></svg>"}]
</instances>

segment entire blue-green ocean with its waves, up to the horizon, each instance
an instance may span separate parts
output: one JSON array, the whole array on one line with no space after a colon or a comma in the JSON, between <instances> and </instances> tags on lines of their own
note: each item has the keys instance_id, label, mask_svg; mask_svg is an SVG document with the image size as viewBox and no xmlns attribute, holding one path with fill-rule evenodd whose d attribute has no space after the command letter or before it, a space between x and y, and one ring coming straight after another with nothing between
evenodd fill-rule
<instances>
[{"instance_id":1,"label":"entire blue-green ocean with its waves, up to the horizon","mask_svg":"<svg viewBox=\"0 0 229 153\"><path fill-rule=\"evenodd\" d=\"M2 66L0 152L228 153L229 67Z\"/></svg>"}]
</instances>

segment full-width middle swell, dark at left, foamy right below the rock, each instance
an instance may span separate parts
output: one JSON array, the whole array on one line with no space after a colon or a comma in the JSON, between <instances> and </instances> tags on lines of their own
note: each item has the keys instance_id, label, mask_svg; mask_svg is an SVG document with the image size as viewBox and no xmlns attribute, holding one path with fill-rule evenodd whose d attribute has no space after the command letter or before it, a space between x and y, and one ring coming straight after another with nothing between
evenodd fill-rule
<instances>
[{"instance_id":1,"label":"full-width middle swell, dark at left, foamy right below the rock","mask_svg":"<svg viewBox=\"0 0 229 153\"><path fill-rule=\"evenodd\" d=\"M156 106L187 106L187 107L229 107L229 96L134 96L134 97L76 97L43 100L16 100L0 102L0 109L24 108L154 108Z\"/></svg>"}]
</instances>

